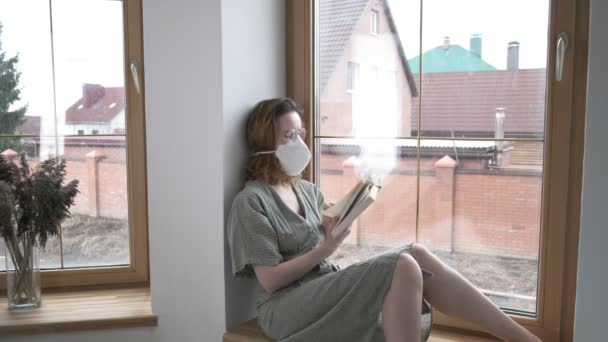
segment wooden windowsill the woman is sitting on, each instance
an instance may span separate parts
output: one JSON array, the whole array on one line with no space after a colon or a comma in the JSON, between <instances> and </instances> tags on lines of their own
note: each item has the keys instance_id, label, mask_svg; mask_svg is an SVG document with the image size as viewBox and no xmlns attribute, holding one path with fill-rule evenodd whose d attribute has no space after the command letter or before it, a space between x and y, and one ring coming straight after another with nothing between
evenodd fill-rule
<instances>
[{"instance_id":1,"label":"wooden windowsill the woman is sitting on","mask_svg":"<svg viewBox=\"0 0 608 342\"><path fill-rule=\"evenodd\" d=\"M494 342L495 338L471 335L464 331L433 326L428 342ZM264 335L255 319L247 321L224 334L224 342L272 342Z\"/></svg>"}]
</instances>

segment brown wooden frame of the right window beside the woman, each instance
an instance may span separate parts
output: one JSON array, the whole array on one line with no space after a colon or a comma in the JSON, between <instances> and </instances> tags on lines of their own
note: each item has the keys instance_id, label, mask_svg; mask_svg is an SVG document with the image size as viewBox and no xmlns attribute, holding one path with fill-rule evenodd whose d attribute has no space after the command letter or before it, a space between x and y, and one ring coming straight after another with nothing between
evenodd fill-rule
<instances>
[{"instance_id":1,"label":"brown wooden frame of the right window beside the woman","mask_svg":"<svg viewBox=\"0 0 608 342\"><path fill-rule=\"evenodd\" d=\"M304 108L306 143L315 153L314 119L315 0L288 0L287 94ZM583 168L589 0L552 0L549 17L547 65L547 149L544 157L542 229L538 277L538 316L512 316L544 341L572 341ZM558 32L569 37L563 79L556 82L555 54ZM311 163L304 177L314 181ZM550 227L550 229L548 228ZM467 322L436 311L438 326L480 332Z\"/></svg>"}]
</instances>

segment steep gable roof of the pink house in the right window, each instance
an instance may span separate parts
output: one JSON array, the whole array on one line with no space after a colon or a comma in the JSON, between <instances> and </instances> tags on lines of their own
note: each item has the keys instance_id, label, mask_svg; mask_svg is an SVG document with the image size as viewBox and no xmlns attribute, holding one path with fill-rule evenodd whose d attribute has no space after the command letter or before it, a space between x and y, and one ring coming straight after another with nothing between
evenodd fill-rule
<instances>
[{"instance_id":1,"label":"steep gable roof of the pink house in the right window","mask_svg":"<svg viewBox=\"0 0 608 342\"><path fill-rule=\"evenodd\" d=\"M319 84L321 89L336 68L344 49L348 45L361 16L370 0L322 0L319 1ZM397 33L388 3L384 1L386 16L394 33L406 78L412 95L416 96L416 85L410 71L401 40Z\"/></svg>"}]
</instances>

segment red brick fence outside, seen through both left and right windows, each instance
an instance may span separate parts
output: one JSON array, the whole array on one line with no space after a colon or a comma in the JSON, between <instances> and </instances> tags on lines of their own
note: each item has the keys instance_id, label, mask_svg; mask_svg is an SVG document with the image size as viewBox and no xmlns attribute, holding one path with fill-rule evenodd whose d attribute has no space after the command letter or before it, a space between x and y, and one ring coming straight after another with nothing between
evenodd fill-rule
<instances>
[{"instance_id":1,"label":"red brick fence outside, seen through both left and right windows","mask_svg":"<svg viewBox=\"0 0 608 342\"><path fill-rule=\"evenodd\" d=\"M122 150L122 153L120 152ZM73 213L128 217L125 149L67 149L67 180L80 181ZM350 158L350 159L349 159ZM320 186L327 202L338 201L357 181L355 159L322 154ZM353 225L347 242L398 246L415 239L433 249L534 258L538 254L542 177L455 167L449 157L420 161L416 208L415 158L403 158L383 189ZM34 167L36 161L32 161ZM464 163L463 163L464 164ZM419 227L416 237L416 213Z\"/></svg>"}]
</instances>

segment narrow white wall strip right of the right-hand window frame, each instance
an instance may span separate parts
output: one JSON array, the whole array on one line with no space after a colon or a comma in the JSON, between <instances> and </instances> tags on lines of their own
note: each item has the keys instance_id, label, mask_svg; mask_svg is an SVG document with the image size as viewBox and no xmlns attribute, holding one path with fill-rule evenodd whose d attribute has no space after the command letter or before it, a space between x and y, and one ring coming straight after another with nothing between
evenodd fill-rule
<instances>
[{"instance_id":1,"label":"narrow white wall strip right of the right-hand window frame","mask_svg":"<svg viewBox=\"0 0 608 342\"><path fill-rule=\"evenodd\" d=\"M591 0L585 156L574 340L605 341L608 325L608 2Z\"/></svg>"}]
</instances>

